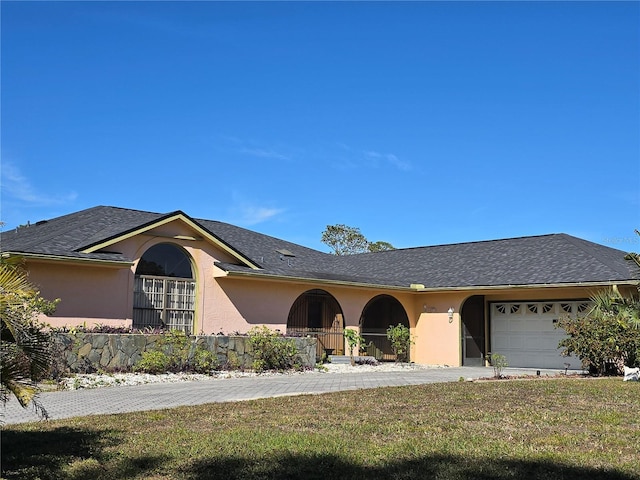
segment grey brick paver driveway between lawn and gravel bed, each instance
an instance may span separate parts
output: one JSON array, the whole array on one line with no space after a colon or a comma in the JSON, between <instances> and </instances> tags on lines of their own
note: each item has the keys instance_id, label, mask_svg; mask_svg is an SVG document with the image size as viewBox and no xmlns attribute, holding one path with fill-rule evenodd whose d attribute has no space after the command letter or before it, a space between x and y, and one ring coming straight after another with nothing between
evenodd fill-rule
<instances>
[{"instance_id":1,"label":"grey brick paver driveway between lawn and gravel bed","mask_svg":"<svg viewBox=\"0 0 640 480\"><path fill-rule=\"evenodd\" d=\"M507 375L535 375L532 369L505 369ZM543 370L542 375L557 375ZM182 383L156 383L104 387L40 394L40 402L52 420L86 415L160 410L183 405L235 402L285 395L320 394L342 390L458 381L460 377L483 378L491 368L429 368L393 372L307 373L258 377L207 379ZM15 399L2 411L5 424L38 421L32 409L23 409Z\"/></svg>"}]
</instances>

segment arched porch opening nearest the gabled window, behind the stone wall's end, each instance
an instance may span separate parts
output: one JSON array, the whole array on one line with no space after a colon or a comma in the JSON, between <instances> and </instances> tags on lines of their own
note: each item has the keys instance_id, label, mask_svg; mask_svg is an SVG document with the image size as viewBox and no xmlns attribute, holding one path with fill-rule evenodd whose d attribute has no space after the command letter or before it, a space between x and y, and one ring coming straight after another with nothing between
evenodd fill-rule
<instances>
[{"instance_id":1,"label":"arched porch opening nearest the gabled window, behind the stone wall's end","mask_svg":"<svg viewBox=\"0 0 640 480\"><path fill-rule=\"evenodd\" d=\"M316 355L344 354L344 316L338 301L324 290L308 290L289 310L288 335L311 335L318 338Z\"/></svg>"}]
</instances>

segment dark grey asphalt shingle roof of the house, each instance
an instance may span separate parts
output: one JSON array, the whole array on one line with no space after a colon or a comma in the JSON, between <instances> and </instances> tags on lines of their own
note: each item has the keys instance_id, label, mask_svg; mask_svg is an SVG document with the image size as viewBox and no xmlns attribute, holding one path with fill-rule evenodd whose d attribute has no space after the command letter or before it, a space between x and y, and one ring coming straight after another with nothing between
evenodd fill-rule
<instances>
[{"instance_id":1,"label":"dark grey asphalt shingle roof of the house","mask_svg":"<svg viewBox=\"0 0 640 480\"><path fill-rule=\"evenodd\" d=\"M0 250L130 262L133 259L117 251L82 250L180 213L94 207L3 232ZM640 280L640 269L624 259L626 252L566 234L336 256L228 223L192 220L261 267L218 264L234 273L397 287L423 284L427 288Z\"/></svg>"}]
</instances>

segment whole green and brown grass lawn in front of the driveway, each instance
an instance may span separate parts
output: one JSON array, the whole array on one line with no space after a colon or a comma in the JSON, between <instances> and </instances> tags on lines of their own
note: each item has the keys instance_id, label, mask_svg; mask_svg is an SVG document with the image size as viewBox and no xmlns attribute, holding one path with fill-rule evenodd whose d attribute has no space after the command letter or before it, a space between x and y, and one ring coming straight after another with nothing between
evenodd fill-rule
<instances>
[{"instance_id":1,"label":"whole green and brown grass lawn in front of the driveway","mask_svg":"<svg viewBox=\"0 0 640 480\"><path fill-rule=\"evenodd\" d=\"M461 382L8 426L2 478L640 479L639 446L638 383Z\"/></svg>"}]
</instances>

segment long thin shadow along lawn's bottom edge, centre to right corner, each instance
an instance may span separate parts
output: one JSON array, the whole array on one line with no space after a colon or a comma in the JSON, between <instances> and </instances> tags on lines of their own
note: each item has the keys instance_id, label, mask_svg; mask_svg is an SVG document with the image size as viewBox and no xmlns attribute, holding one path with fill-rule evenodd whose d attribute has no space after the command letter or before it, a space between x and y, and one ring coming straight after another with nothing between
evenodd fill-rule
<instances>
[{"instance_id":1,"label":"long thin shadow along lawn's bottom edge, centre to right corner","mask_svg":"<svg viewBox=\"0 0 640 480\"><path fill-rule=\"evenodd\" d=\"M267 459L221 458L196 461L182 470L189 480L225 479L441 479L441 480L632 480L616 471L580 468L552 462L470 459L432 455L385 466L361 466L335 456L276 456Z\"/></svg>"}]
</instances>

